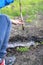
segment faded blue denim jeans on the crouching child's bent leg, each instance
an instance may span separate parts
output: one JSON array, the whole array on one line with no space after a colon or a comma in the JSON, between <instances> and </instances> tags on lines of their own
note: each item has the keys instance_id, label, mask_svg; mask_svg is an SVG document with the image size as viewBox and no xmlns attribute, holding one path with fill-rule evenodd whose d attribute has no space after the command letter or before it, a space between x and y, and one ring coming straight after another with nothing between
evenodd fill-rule
<instances>
[{"instance_id":1,"label":"faded blue denim jeans on the crouching child's bent leg","mask_svg":"<svg viewBox=\"0 0 43 65\"><path fill-rule=\"evenodd\" d=\"M8 46L9 35L11 31L11 22L5 15L0 15L0 58L6 54Z\"/></svg>"}]
</instances>

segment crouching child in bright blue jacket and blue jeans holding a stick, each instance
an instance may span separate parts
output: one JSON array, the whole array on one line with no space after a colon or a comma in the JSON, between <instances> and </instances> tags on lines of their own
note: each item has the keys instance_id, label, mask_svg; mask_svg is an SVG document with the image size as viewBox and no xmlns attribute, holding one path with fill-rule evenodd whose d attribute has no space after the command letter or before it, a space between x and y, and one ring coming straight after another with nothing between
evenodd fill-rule
<instances>
[{"instance_id":1,"label":"crouching child in bright blue jacket and blue jeans holding a stick","mask_svg":"<svg viewBox=\"0 0 43 65\"><path fill-rule=\"evenodd\" d=\"M0 8L13 2L13 0L0 0ZM0 65L5 65L6 49L11 31L11 24L23 24L18 20L10 21L6 15L0 15Z\"/></svg>"}]
</instances>

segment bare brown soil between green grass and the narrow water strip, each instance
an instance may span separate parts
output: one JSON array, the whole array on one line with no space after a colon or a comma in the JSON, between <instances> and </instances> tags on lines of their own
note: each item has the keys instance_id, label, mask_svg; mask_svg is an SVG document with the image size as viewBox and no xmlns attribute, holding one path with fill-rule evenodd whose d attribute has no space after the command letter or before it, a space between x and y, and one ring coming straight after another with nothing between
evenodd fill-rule
<instances>
[{"instance_id":1,"label":"bare brown soil between green grass and the narrow water strip","mask_svg":"<svg viewBox=\"0 0 43 65\"><path fill-rule=\"evenodd\" d=\"M28 18L28 17L27 17ZM24 21L26 17L24 17ZM24 30L22 25L12 24L10 42L26 41L43 42L43 15L37 15L37 19L31 23L25 21Z\"/></svg>"}]
</instances>

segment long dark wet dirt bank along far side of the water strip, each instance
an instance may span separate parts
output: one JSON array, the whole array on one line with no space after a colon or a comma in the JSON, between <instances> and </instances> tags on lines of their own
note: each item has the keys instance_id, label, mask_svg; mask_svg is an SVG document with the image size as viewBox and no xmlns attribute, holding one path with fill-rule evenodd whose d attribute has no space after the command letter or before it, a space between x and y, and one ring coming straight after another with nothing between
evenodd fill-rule
<instances>
[{"instance_id":1,"label":"long dark wet dirt bank along far side of the water strip","mask_svg":"<svg viewBox=\"0 0 43 65\"><path fill-rule=\"evenodd\" d=\"M21 36L21 35L16 35L16 36L13 36L9 39L9 42L29 42L29 41L35 41L35 42L43 42L43 37L38 37L38 36L30 36L30 35L27 35L27 36Z\"/></svg>"}]
</instances>

